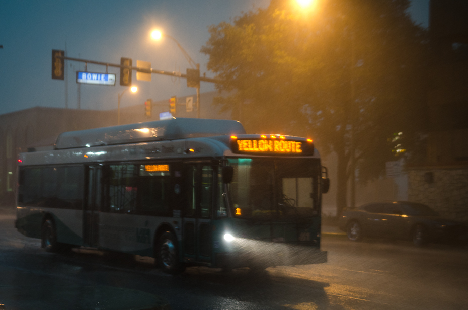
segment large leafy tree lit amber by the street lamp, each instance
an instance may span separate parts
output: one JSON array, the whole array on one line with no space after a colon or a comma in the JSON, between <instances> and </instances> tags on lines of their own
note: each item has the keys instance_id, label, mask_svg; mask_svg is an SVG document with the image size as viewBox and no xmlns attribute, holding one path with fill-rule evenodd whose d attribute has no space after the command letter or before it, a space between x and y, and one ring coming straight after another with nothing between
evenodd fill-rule
<instances>
[{"instance_id":1,"label":"large leafy tree lit amber by the street lamp","mask_svg":"<svg viewBox=\"0 0 468 310\"><path fill-rule=\"evenodd\" d=\"M313 137L337 154L337 211L353 171L366 182L392 160L388 139L407 148L422 128L426 33L408 0L316 0L266 9L211 26L202 52L216 73L216 98L250 132ZM353 163L354 155L355 169Z\"/></svg>"}]
</instances>

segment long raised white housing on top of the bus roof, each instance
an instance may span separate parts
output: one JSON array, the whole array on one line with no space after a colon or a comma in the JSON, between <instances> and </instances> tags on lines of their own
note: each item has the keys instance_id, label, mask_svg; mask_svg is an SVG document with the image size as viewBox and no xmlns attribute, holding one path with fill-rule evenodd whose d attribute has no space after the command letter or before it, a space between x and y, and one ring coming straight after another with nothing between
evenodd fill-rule
<instances>
[{"instance_id":1,"label":"long raised white housing on top of the bus roof","mask_svg":"<svg viewBox=\"0 0 468 310\"><path fill-rule=\"evenodd\" d=\"M55 148L91 147L245 133L242 124L235 120L174 117L162 121L64 132L57 137Z\"/></svg>"}]
</instances>

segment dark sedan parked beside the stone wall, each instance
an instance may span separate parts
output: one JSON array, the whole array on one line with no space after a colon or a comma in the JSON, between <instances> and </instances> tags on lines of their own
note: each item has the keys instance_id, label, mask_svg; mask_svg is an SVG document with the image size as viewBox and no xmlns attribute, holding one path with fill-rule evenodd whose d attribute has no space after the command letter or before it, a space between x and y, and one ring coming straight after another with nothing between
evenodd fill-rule
<instances>
[{"instance_id":1,"label":"dark sedan parked beside the stone wall","mask_svg":"<svg viewBox=\"0 0 468 310\"><path fill-rule=\"evenodd\" d=\"M421 203L394 201L369 203L345 209L340 216L340 229L349 240L363 237L412 240L417 247L430 242L464 243L468 225L440 217Z\"/></svg>"}]
</instances>

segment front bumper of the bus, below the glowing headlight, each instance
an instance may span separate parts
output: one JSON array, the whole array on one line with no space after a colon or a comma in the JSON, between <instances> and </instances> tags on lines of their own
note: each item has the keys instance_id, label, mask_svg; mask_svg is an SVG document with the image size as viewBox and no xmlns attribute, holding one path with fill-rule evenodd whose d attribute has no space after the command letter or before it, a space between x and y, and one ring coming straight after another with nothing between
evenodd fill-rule
<instances>
[{"instance_id":1,"label":"front bumper of the bus, below the glowing headlight","mask_svg":"<svg viewBox=\"0 0 468 310\"><path fill-rule=\"evenodd\" d=\"M263 247L240 248L217 253L217 267L294 266L327 262L327 251L316 247L269 243Z\"/></svg>"}]
</instances>

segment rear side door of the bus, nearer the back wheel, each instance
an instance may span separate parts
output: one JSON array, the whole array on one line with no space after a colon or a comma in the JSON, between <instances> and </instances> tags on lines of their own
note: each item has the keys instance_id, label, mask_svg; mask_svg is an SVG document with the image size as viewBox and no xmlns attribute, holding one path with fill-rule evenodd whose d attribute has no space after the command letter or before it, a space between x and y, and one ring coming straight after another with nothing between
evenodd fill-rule
<instances>
[{"instance_id":1,"label":"rear side door of the bus, nearer the back wheel","mask_svg":"<svg viewBox=\"0 0 468 310\"><path fill-rule=\"evenodd\" d=\"M88 167L88 187L83 219L83 245L86 247L98 247L101 173L99 166Z\"/></svg>"}]
</instances>

